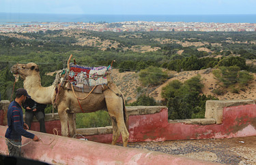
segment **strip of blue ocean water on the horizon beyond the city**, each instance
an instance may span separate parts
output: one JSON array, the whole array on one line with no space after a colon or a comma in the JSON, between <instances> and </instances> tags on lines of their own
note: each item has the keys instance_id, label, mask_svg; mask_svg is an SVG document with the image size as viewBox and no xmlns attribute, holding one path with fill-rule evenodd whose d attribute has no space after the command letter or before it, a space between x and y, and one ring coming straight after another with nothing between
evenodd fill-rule
<instances>
[{"instance_id":1,"label":"strip of blue ocean water on the horizon beyond the city","mask_svg":"<svg viewBox=\"0 0 256 165\"><path fill-rule=\"evenodd\" d=\"M89 15L0 13L0 22L220 22L256 23L256 14L243 15Z\"/></svg>"}]
</instances>

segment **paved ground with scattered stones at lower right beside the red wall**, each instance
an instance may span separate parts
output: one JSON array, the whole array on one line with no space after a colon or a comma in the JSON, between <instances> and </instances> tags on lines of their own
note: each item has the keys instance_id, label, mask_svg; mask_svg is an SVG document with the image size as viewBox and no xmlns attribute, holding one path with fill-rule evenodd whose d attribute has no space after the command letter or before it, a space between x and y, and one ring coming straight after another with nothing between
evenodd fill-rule
<instances>
[{"instance_id":1,"label":"paved ground with scattered stones at lower right beside the red wall","mask_svg":"<svg viewBox=\"0 0 256 165\"><path fill-rule=\"evenodd\" d=\"M256 164L256 136L233 139L128 143L128 147L222 164Z\"/></svg>"}]
</instances>

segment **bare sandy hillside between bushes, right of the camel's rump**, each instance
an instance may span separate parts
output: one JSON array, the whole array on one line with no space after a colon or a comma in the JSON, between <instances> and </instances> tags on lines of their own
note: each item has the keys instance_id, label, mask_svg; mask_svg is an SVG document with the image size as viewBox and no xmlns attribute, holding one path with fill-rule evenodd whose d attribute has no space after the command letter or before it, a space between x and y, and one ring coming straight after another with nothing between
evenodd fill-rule
<instances>
[{"instance_id":1,"label":"bare sandy hillside between bushes, right of the camel's rump","mask_svg":"<svg viewBox=\"0 0 256 165\"><path fill-rule=\"evenodd\" d=\"M139 75L135 72L127 71L125 73L119 73L117 69L113 70L112 78L113 81L117 84L120 90L124 93L126 100L128 103L132 103L136 100L136 98L139 96L139 92L137 92L137 88L141 86L142 91L146 94L149 94L149 96L152 96L155 100L160 101L162 100L161 97L161 91L164 86L167 86L167 84L170 81L173 81L174 79L178 79L180 81L186 81L186 79L190 79L191 77L199 74L201 75L202 83L204 85L202 91L203 94L206 95L212 95L220 100L240 100L240 99L255 99L256 96L256 74L254 75L254 80L251 84L249 84L244 91L240 91L239 94L237 93L231 93L227 92L223 95L216 95L212 93L212 90L218 88L218 84L216 79L214 79L214 75L212 74L212 69L203 69L200 71L183 71L180 73L173 72L174 77L171 79L168 79L165 81L164 84L157 87L142 87L141 83L139 82Z\"/></svg>"}]
</instances>

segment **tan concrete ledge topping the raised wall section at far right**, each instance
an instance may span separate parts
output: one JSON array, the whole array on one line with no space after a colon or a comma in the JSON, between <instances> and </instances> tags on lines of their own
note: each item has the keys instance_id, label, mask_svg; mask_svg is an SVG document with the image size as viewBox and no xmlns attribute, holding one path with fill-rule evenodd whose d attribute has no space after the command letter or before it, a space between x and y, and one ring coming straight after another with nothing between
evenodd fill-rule
<instances>
[{"instance_id":1,"label":"tan concrete ledge topping the raised wall section at far right","mask_svg":"<svg viewBox=\"0 0 256 165\"><path fill-rule=\"evenodd\" d=\"M205 118L213 118L216 120L216 124L222 124L224 107L254 104L255 100L207 100L205 104Z\"/></svg>"}]
</instances>

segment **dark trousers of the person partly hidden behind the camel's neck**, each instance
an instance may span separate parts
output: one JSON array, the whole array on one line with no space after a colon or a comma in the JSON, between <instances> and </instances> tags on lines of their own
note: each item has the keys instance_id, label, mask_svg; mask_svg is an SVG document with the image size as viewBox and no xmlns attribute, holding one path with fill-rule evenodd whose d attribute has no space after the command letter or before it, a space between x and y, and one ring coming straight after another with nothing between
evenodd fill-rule
<instances>
[{"instance_id":1,"label":"dark trousers of the person partly hidden behind the camel's neck","mask_svg":"<svg viewBox=\"0 0 256 165\"><path fill-rule=\"evenodd\" d=\"M44 113L42 111L26 111L25 112L25 121L29 126L29 130L31 128L31 122L33 121L33 116L35 115L36 119L40 124L40 132L46 132L45 125L44 125Z\"/></svg>"}]
</instances>

